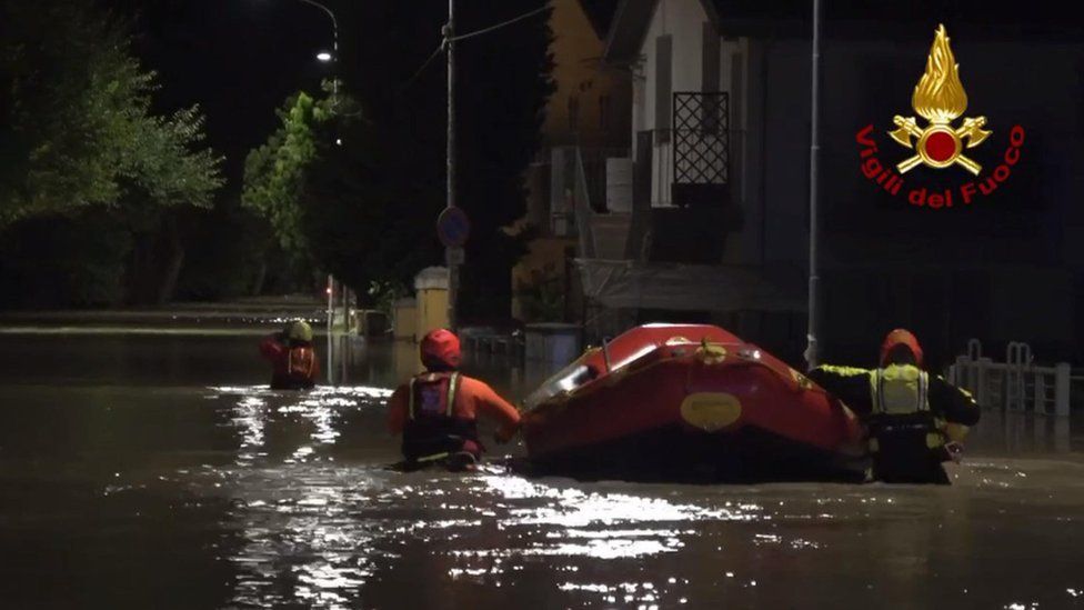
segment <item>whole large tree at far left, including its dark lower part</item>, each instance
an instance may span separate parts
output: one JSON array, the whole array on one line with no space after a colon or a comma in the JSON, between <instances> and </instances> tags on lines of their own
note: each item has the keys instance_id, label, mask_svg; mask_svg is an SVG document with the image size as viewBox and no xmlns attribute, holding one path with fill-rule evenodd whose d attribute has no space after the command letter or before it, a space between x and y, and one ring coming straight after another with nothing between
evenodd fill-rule
<instances>
[{"instance_id":1,"label":"whole large tree at far left, including its dark lower part","mask_svg":"<svg viewBox=\"0 0 1084 610\"><path fill-rule=\"evenodd\" d=\"M108 304L123 274L139 300L168 299L184 260L179 216L209 208L223 182L199 108L155 113L157 76L132 56L128 24L89 0L0 0L0 231L19 261L0 280L54 273L71 288L44 300ZM104 256L101 240L64 237L79 227L124 239Z\"/></svg>"}]
</instances>

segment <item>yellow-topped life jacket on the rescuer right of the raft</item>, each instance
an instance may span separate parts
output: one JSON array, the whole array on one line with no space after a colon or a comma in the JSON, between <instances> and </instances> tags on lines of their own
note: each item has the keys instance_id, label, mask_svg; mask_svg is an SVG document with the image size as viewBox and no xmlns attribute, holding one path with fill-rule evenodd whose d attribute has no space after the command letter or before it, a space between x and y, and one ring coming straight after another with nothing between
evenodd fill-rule
<instances>
[{"instance_id":1,"label":"yellow-topped life jacket on the rescuer right of the raft","mask_svg":"<svg viewBox=\"0 0 1084 610\"><path fill-rule=\"evenodd\" d=\"M870 372L870 450L884 437L910 437L930 450L945 444L944 422L930 411L930 374L913 364L889 364Z\"/></svg>"}]
</instances>

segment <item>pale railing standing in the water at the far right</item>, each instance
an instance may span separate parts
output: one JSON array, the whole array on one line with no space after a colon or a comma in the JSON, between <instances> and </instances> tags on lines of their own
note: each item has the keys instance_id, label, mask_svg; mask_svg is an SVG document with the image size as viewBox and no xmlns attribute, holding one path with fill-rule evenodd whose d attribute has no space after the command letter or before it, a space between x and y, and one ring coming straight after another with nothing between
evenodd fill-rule
<instances>
[{"instance_id":1,"label":"pale railing standing in the water at the far right","mask_svg":"<svg viewBox=\"0 0 1084 610\"><path fill-rule=\"evenodd\" d=\"M967 341L967 353L948 367L948 379L970 391L980 406L1005 411L1068 416L1072 367L1035 364L1031 346L1012 341L1005 361L994 362L982 354L977 339Z\"/></svg>"}]
</instances>

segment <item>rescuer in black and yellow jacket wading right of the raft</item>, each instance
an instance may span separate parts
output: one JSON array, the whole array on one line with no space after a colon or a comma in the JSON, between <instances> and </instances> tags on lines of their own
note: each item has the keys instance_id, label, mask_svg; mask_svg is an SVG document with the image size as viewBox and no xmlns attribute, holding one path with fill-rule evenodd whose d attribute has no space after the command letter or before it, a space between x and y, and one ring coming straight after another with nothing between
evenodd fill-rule
<instances>
[{"instance_id":1,"label":"rescuer in black and yellow jacket wading right of the raft","mask_svg":"<svg viewBox=\"0 0 1084 610\"><path fill-rule=\"evenodd\" d=\"M966 391L922 370L922 347L910 331L885 337L879 369L822 366L809 377L865 420L872 478L950 482L941 463L953 459L967 427L978 421L978 406Z\"/></svg>"}]
</instances>

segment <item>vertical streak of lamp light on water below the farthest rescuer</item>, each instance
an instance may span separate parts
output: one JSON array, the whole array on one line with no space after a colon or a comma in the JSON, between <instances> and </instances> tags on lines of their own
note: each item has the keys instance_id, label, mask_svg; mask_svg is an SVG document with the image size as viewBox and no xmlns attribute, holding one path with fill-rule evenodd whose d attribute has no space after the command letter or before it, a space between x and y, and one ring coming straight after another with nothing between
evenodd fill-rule
<instances>
[{"instance_id":1,"label":"vertical streak of lamp light on water below the farthest rescuer","mask_svg":"<svg viewBox=\"0 0 1084 610\"><path fill-rule=\"evenodd\" d=\"M381 487L375 469L339 468L329 449L342 419L381 410L390 393L368 387L271 392L264 387L212 388L235 401L231 424L240 434L229 480L230 517L243 544L229 558L239 570L233 603L347 608L371 574L374 522L353 517ZM281 460L269 458L269 427L308 429Z\"/></svg>"}]
</instances>

